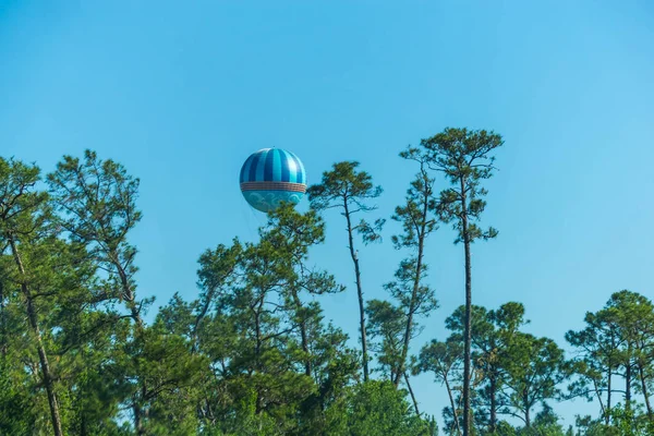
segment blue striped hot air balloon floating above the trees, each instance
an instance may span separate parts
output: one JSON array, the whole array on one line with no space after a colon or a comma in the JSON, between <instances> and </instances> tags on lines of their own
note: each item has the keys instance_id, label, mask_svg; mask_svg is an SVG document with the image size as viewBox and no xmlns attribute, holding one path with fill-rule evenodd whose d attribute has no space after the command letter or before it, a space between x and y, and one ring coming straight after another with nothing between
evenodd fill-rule
<instances>
[{"instance_id":1,"label":"blue striped hot air balloon floating above the trees","mask_svg":"<svg viewBox=\"0 0 654 436\"><path fill-rule=\"evenodd\" d=\"M252 207L263 213L282 202L298 204L306 192L302 161L281 148L262 148L241 168L241 192Z\"/></svg>"}]
</instances>

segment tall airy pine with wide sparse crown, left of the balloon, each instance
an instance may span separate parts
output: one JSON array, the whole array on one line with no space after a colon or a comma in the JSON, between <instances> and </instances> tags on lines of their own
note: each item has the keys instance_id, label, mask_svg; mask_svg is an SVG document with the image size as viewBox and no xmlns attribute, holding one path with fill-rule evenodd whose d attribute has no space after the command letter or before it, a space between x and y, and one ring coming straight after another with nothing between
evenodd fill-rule
<instances>
[{"instance_id":1,"label":"tall airy pine with wide sparse crown, left of the balloon","mask_svg":"<svg viewBox=\"0 0 654 436\"><path fill-rule=\"evenodd\" d=\"M64 156L57 170L48 174L48 183L53 202L62 213L60 225L73 241L88 247L105 271L107 295L102 296L124 302L135 325L131 346L133 351L142 350L145 339L142 308L148 302L136 300L136 249L128 241L128 233L142 216L135 204L138 179L129 175L120 164L110 159L102 161L95 152L85 150L83 160ZM144 435L150 391L140 367L143 360L137 355L133 358L129 370L132 374L128 375L136 380L131 405L136 432Z\"/></svg>"}]
</instances>

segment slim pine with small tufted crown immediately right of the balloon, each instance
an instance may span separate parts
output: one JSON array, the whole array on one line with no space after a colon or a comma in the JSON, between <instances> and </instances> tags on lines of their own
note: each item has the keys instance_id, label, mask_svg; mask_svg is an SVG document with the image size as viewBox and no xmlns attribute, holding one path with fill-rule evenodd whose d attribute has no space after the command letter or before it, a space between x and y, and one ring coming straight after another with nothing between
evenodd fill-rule
<instances>
[{"instance_id":1,"label":"slim pine with small tufted crown immediately right of the balloon","mask_svg":"<svg viewBox=\"0 0 654 436\"><path fill-rule=\"evenodd\" d=\"M379 231L384 226L384 220L378 219L374 225L366 222L364 219L358 225L353 222L353 216L355 214L375 210L376 206L370 206L367 201L376 198L382 194L382 186L375 186L372 177L365 171L358 171L358 167L359 162L354 161L335 164L331 171L325 171L323 173L323 180L319 184L308 187L307 194L312 207L316 210L338 208L346 218L348 247L354 265L356 294L359 298L359 328L361 331L363 379L367 380L368 353L365 331L365 303L361 283L359 251L354 246L354 232L359 232L366 243L376 241L379 239Z\"/></svg>"}]
</instances>

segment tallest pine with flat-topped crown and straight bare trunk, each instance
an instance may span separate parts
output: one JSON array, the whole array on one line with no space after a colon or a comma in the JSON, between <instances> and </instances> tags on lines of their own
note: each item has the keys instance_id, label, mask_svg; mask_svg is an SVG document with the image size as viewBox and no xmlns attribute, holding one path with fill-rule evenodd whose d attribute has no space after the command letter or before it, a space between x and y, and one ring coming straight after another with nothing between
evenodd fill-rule
<instances>
[{"instance_id":1,"label":"tallest pine with flat-topped crown and straight bare trunk","mask_svg":"<svg viewBox=\"0 0 654 436\"><path fill-rule=\"evenodd\" d=\"M453 222L457 230L456 242L462 242L465 261L465 334L463 356L463 435L471 432L471 307L472 307L472 263L470 245L479 239L497 235L493 228L482 230L474 223L481 218L486 202L486 190L481 186L495 169L491 154L502 145L501 136L485 130L446 129L421 142L428 154L432 169L441 171L451 187L441 191L439 207L445 222Z\"/></svg>"}]
</instances>

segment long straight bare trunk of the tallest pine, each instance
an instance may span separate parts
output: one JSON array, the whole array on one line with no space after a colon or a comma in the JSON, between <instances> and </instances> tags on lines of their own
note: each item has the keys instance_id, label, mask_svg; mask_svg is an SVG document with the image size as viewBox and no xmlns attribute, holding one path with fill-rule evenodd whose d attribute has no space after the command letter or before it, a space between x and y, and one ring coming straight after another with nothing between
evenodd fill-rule
<instances>
[{"instance_id":1,"label":"long straight bare trunk of the tallest pine","mask_svg":"<svg viewBox=\"0 0 654 436\"><path fill-rule=\"evenodd\" d=\"M470 259L470 234L468 233L468 204L465 198L465 180L461 178L461 231L465 252L465 337L463 351L463 436L471 436L470 413L470 366L471 366L471 316L472 316L472 274Z\"/></svg>"}]
</instances>

